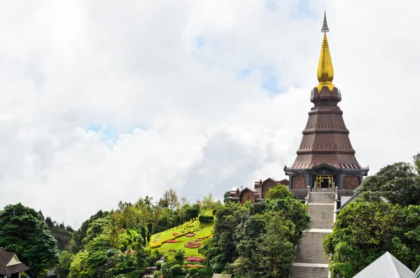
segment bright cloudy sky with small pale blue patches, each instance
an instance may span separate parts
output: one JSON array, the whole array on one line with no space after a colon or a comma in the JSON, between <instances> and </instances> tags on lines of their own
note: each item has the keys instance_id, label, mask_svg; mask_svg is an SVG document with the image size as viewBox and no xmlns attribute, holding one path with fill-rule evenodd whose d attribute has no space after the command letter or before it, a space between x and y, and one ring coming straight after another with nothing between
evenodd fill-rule
<instances>
[{"instance_id":1,"label":"bright cloudy sky with small pale blue patches","mask_svg":"<svg viewBox=\"0 0 420 278\"><path fill-rule=\"evenodd\" d=\"M420 151L420 2L0 1L0 209L78 228L99 209L285 178L323 11L356 158Z\"/></svg>"}]
</instances>

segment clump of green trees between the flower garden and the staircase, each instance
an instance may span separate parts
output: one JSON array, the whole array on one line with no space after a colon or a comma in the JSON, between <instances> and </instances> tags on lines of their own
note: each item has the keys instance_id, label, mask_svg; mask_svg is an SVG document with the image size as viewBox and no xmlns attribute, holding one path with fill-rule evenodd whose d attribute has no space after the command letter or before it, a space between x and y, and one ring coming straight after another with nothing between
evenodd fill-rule
<instances>
[{"instance_id":1,"label":"clump of green trees between the flower garden and the staircase","mask_svg":"<svg viewBox=\"0 0 420 278\"><path fill-rule=\"evenodd\" d=\"M213 237L200 249L209 270L236 277L288 277L309 215L307 206L283 188L273 188L266 201L228 202L218 211Z\"/></svg>"}]
</instances>

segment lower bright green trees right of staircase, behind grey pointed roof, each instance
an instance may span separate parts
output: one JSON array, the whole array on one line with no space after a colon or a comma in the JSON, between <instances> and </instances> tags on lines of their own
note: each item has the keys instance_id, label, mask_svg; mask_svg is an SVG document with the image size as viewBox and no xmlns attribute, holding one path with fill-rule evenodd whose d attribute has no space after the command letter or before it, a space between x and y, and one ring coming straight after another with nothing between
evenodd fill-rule
<instances>
[{"instance_id":1,"label":"lower bright green trees right of staircase, behind grey pointed roof","mask_svg":"<svg viewBox=\"0 0 420 278\"><path fill-rule=\"evenodd\" d=\"M419 216L419 206L365 200L346 205L323 239L332 277L353 277L386 251L414 270L420 263Z\"/></svg>"}]
</instances>

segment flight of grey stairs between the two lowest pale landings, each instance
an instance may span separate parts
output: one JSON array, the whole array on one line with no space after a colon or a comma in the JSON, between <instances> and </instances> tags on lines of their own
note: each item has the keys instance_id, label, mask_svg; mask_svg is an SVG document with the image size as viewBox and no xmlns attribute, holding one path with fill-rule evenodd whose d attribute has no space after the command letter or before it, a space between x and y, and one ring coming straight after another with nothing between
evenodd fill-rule
<instances>
[{"instance_id":1,"label":"flight of grey stairs between the two lowest pale landings","mask_svg":"<svg viewBox=\"0 0 420 278\"><path fill-rule=\"evenodd\" d=\"M297 246L295 263L327 263L323 257L322 239L328 232L303 232L302 242Z\"/></svg>"}]
</instances>

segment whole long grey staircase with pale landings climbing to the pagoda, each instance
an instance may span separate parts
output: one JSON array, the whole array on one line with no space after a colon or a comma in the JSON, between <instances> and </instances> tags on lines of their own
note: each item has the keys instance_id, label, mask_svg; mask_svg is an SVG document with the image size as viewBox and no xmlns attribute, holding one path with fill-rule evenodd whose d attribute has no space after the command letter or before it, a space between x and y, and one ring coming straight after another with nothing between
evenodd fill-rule
<instances>
[{"instance_id":1,"label":"whole long grey staircase with pale landings climbing to the pagoda","mask_svg":"<svg viewBox=\"0 0 420 278\"><path fill-rule=\"evenodd\" d=\"M322 239L332 232L334 202L335 193L309 193L311 230L303 232L290 278L328 278L328 260L323 256Z\"/></svg>"}]
</instances>

